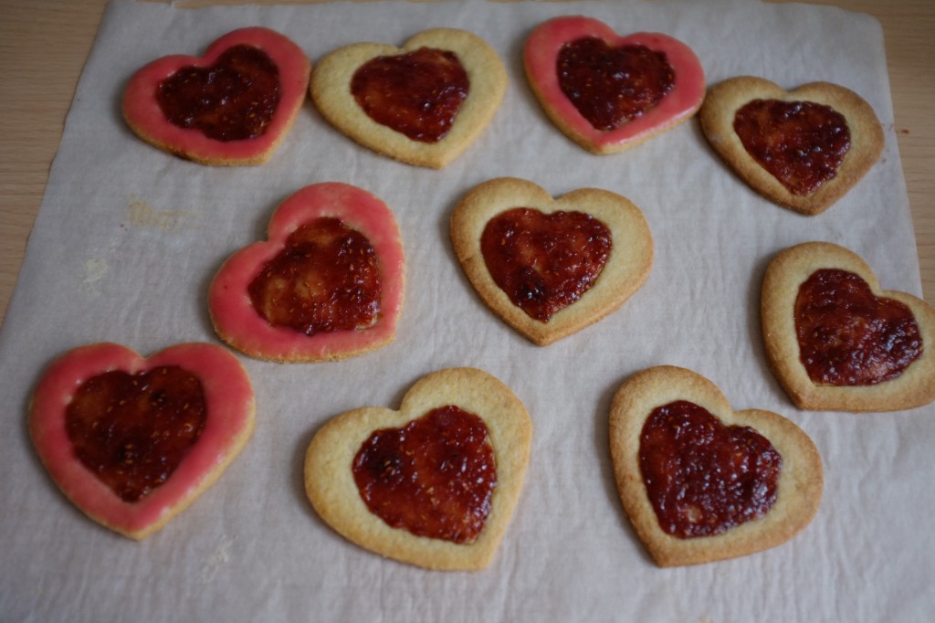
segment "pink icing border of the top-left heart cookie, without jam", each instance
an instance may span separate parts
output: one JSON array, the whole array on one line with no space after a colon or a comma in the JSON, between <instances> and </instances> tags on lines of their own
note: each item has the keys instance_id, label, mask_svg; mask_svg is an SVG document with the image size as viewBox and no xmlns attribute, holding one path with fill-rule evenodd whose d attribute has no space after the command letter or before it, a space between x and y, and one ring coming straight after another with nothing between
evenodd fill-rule
<instances>
[{"instance_id":1,"label":"pink icing border of the top-left heart cookie, without jam","mask_svg":"<svg viewBox=\"0 0 935 623\"><path fill-rule=\"evenodd\" d=\"M221 141L208 138L199 130L181 128L166 121L155 98L159 82L181 67L213 65L224 51L239 44L266 51L280 70L280 106L266 133L257 138ZM305 52L292 40L268 28L242 28L214 41L204 56L165 56L139 69L123 92L123 116L135 130L173 152L235 164L253 161L259 154L275 148L289 130L295 112L305 101L310 71Z\"/></svg>"}]
</instances>

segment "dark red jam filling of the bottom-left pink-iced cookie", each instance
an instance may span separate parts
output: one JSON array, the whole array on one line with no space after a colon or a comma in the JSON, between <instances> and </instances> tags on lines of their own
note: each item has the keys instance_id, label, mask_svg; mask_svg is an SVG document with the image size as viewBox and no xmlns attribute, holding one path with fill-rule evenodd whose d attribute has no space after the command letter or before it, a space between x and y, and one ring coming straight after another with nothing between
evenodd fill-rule
<instances>
[{"instance_id":1,"label":"dark red jam filling of the bottom-left pink-iced cookie","mask_svg":"<svg viewBox=\"0 0 935 623\"><path fill-rule=\"evenodd\" d=\"M65 432L81 463L124 501L165 484L198 440L208 410L201 382L175 366L114 370L81 384Z\"/></svg>"}]
</instances>

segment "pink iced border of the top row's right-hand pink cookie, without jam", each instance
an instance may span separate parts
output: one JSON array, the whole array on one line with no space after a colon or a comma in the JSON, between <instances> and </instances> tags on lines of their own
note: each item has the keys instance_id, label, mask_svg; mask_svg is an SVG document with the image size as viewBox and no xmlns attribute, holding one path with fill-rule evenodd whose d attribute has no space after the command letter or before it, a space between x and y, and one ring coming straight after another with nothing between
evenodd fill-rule
<instances>
[{"instance_id":1,"label":"pink iced border of the top row's right-hand pink cookie, without jam","mask_svg":"<svg viewBox=\"0 0 935 623\"><path fill-rule=\"evenodd\" d=\"M583 36L597 36L614 47L642 45L665 52L669 64L675 69L675 86L656 108L641 117L610 132L597 130L562 93L555 69L561 47ZM534 82L546 106L574 133L596 147L620 145L643 138L665 125L691 116L704 99L704 70L698 56L678 39L661 33L619 36L604 22L580 16L560 17L539 24L526 40L523 54L529 80Z\"/></svg>"}]
</instances>

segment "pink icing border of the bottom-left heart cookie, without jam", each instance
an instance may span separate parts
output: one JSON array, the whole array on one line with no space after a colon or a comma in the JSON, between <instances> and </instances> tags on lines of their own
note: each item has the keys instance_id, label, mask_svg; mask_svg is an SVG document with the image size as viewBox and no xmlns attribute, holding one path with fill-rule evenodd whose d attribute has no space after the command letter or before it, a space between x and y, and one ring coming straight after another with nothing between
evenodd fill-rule
<instances>
[{"instance_id":1,"label":"pink icing border of the bottom-left heart cookie, without jam","mask_svg":"<svg viewBox=\"0 0 935 623\"><path fill-rule=\"evenodd\" d=\"M79 385L98 374L120 369L129 373L158 366L180 366L201 380L208 405L205 428L179 467L150 495L137 502L121 500L98 480L77 456L65 432L65 408ZM253 390L237 357L220 346L185 343L149 358L119 344L81 346L55 359L33 396L29 431L52 479L85 514L110 528L133 533L165 518L203 486L212 471L230 456L231 445L252 431Z\"/></svg>"}]
</instances>

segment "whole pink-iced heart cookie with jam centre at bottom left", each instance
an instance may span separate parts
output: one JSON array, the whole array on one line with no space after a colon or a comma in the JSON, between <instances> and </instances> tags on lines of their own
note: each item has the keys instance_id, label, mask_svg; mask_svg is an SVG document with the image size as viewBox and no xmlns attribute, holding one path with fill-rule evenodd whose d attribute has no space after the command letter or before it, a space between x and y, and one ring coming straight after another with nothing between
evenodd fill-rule
<instances>
[{"instance_id":1,"label":"whole pink-iced heart cookie with jam centre at bottom left","mask_svg":"<svg viewBox=\"0 0 935 623\"><path fill-rule=\"evenodd\" d=\"M29 432L65 497L141 540L183 511L253 431L253 390L220 346L148 358L97 343L60 355L36 385Z\"/></svg>"}]
</instances>

